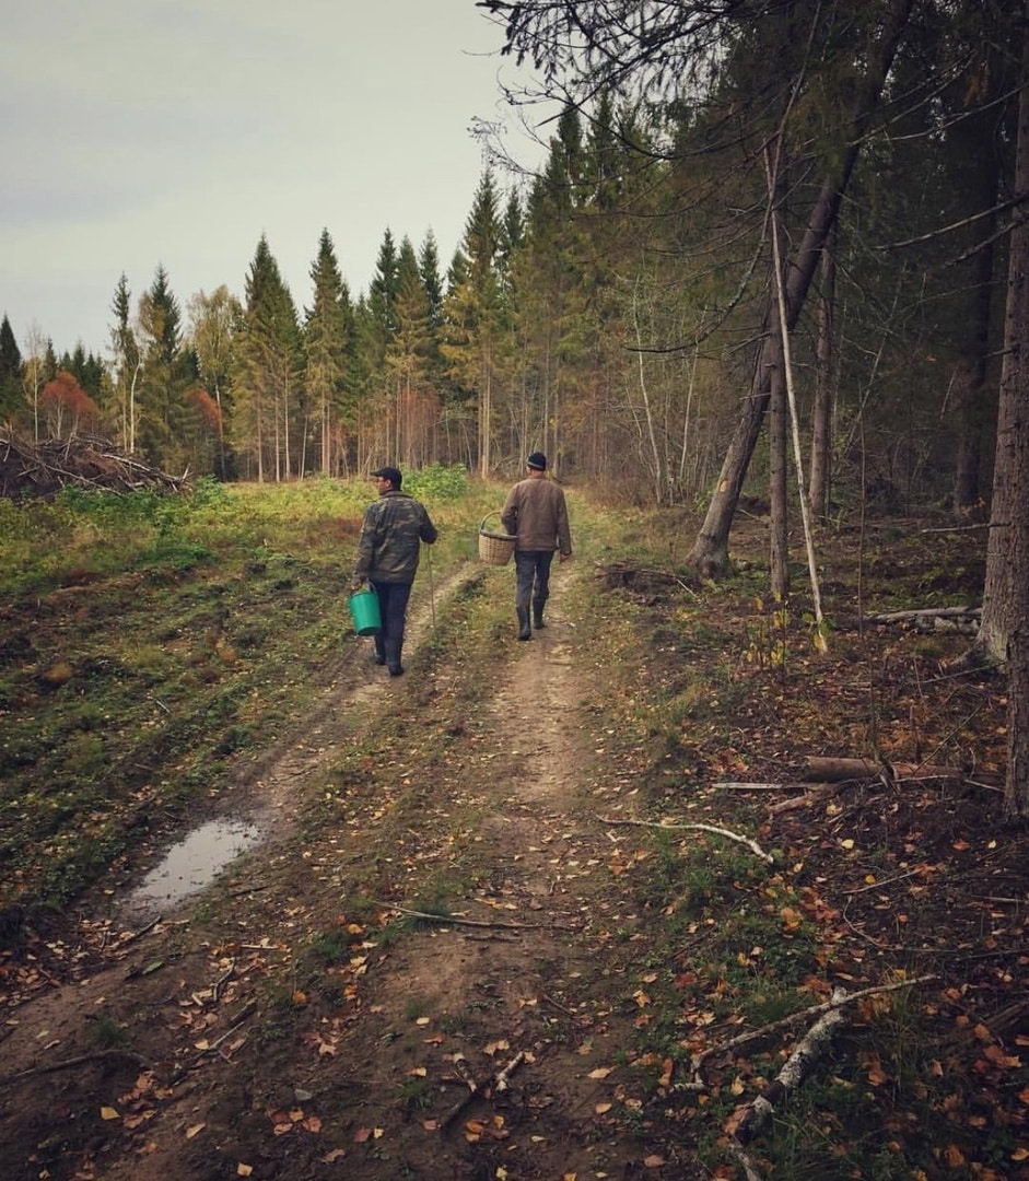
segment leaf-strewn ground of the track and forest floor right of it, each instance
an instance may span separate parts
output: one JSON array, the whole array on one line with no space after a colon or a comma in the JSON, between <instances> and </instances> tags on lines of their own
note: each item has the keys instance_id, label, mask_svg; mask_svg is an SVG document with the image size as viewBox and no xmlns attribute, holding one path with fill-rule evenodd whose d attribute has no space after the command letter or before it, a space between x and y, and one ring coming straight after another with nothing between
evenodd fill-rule
<instances>
[{"instance_id":1,"label":"leaf-strewn ground of the track and forest floor right of it","mask_svg":"<svg viewBox=\"0 0 1029 1181\"><path fill-rule=\"evenodd\" d=\"M930 570L913 533L880 585L965 601L959 540ZM102 883L0 961L0 1175L1029 1177L1003 678L900 624L818 654L734 540L722 587L577 559L527 644L510 570L469 566L402 678L351 638L219 802L260 847L152 922Z\"/></svg>"}]
</instances>

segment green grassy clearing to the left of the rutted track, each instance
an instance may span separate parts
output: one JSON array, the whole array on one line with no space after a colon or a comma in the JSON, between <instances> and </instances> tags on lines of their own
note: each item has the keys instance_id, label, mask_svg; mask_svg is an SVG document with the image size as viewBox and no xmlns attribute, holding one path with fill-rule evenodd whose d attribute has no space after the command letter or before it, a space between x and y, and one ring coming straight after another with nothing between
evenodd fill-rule
<instances>
[{"instance_id":1,"label":"green grassy clearing to the left of the rutted track","mask_svg":"<svg viewBox=\"0 0 1029 1181\"><path fill-rule=\"evenodd\" d=\"M441 529L415 603L475 553L463 469L413 474ZM60 906L300 725L345 658L372 485L0 500L0 914Z\"/></svg>"}]
</instances>

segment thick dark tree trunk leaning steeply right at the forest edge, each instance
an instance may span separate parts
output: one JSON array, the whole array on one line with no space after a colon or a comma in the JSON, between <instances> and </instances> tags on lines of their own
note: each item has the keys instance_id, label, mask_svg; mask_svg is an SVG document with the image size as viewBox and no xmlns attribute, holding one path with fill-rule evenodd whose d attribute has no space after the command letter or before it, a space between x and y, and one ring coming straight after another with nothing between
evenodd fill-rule
<instances>
[{"instance_id":1,"label":"thick dark tree trunk leaning steeply right at the forest edge","mask_svg":"<svg viewBox=\"0 0 1029 1181\"><path fill-rule=\"evenodd\" d=\"M870 65L864 85L857 87L851 110L849 131L846 137L847 150L842 154L838 169L826 177L822 189L812 207L807 228L796 254L790 260L786 279L786 327L792 332L796 327L815 267L829 234L836 224L844 194L858 161L862 132L877 107L879 106L883 86L893 63L900 34L911 17L913 0L894 0L891 12L885 19L880 40L870 47ZM768 407L771 340L777 329L777 313L769 306L762 332L762 345L750 393L743 405L743 413L736 426L729 450L722 463L722 471L708 505L704 523L693 541L688 561L708 575L722 573L729 563L729 530L736 515L740 490L754 455L764 411Z\"/></svg>"}]
</instances>

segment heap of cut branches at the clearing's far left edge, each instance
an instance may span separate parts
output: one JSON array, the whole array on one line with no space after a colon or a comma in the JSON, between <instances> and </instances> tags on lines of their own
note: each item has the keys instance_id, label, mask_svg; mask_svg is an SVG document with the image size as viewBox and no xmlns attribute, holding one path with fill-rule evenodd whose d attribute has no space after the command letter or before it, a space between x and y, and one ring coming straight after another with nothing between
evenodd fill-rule
<instances>
[{"instance_id":1,"label":"heap of cut branches at the clearing's far left edge","mask_svg":"<svg viewBox=\"0 0 1029 1181\"><path fill-rule=\"evenodd\" d=\"M93 435L31 443L0 430L0 496L53 496L69 487L108 492L177 492L187 476L169 476Z\"/></svg>"}]
</instances>

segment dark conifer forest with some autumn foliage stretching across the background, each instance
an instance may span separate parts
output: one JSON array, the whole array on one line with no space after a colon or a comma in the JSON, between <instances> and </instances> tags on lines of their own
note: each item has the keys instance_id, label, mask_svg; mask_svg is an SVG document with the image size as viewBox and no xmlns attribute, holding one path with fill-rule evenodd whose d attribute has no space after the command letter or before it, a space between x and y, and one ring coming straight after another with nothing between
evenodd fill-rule
<instances>
[{"instance_id":1,"label":"dark conifer forest with some autumn foliage stretching across the background","mask_svg":"<svg viewBox=\"0 0 1029 1181\"><path fill-rule=\"evenodd\" d=\"M493 7L508 50L571 53L543 24L566 6L533 6L535 27ZM104 359L22 354L5 318L0 420L229 479L385 459L488 475L541 449L564 475L675 503L734 446L754 458L735 491L764 494L793 462L789 393L816 511L977 511L1022 197L1017 6L645 4L669 22L647 37L611 4L574 7L592 40L561 65L585 84L565 90L546 167L483 172L445 269L431 234L386 231L354 296L326 229L302 308L263 237L242 298L183 306L161 267L138 296L123 276ZM741 442L769 390L769 431Z\"/></svg>"}]
</instances>

